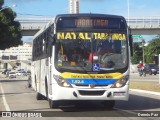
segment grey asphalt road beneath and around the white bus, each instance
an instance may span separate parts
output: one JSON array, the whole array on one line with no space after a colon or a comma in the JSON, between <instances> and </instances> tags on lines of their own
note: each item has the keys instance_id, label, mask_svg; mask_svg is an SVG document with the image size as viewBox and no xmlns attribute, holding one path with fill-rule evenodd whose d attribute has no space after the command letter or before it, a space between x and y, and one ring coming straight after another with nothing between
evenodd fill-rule
<instances>
[{"instance_id":1,"label":"grey asphalt road beneath and around the white bus","mask_svg":"<svg viewBox=\"0 0 160 120\"><path fill-rule=\"evenodd\" d=\"M37 101L35 95L35 91L27 87L25 80L1 80L0 111L37 112L37 115L42 117L76 117L76 119L89 117L92 120L97 117L101 119L112 117L113 120L117 117L123 117L123 120L131 119L130 117L138 117L137 120L154 120L160 117L160 112L158 112L160 111L160 96L149 94L130 92L129 101L117 101L113 109L107 109L99 102L87 101L80 102L78 106L64 103L58 109L50 109L47 100ZM158 115L158 117L150 118L149 115Z\"/></svg>"}]
</instances>

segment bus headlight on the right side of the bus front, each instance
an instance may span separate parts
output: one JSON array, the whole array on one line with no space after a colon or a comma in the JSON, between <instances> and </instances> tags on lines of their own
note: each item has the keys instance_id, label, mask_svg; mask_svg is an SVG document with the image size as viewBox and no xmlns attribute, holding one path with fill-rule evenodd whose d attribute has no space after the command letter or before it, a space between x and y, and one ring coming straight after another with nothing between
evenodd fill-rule
<instances>
[{"instance_id":1,"label":"bus headlight on the right side of the bus front","mask_svg":"<svg viewBox=\"0 0 160 120\"><path fill-rule=\"evenodd\" d=\"M126 85L127 81L129 80L129 76L124 76L123 78L119 79L111 88L120 88Z\"/></svg>"}]
</instances>

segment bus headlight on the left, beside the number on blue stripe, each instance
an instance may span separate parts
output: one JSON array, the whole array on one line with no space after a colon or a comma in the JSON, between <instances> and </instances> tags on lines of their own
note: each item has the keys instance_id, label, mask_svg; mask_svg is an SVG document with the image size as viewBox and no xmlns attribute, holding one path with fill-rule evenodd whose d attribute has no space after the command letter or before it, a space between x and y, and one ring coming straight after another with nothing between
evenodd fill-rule
<instances>
[{"instance_id":1,"label":"bus headlight on the left, beside the number on blue stripe","mask_svg":"<svg viewBox=\"0 0 160 120\"><path fill-rule=\"evenodd\" d=\"M53 75L54 79L57 81L58 85L62 87L72 87L71 84L59 75Z\"/></svg>"}]
</instances>

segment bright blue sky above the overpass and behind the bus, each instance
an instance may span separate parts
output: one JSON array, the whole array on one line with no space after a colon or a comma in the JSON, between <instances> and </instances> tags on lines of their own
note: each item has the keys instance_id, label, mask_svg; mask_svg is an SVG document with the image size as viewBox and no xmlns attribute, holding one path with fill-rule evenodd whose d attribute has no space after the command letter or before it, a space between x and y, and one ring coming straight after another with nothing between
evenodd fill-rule
<instances>
[{"instance_id":1,"label":"bright blue sky above the overpass and behind the bus","mask_svg":"<svg viewBox=\"0 0 160 120\"><path fill-rule=\"evenodd\" d=\"M17 17L56 16L69 12L69 0L4 0L4 6L12 8ZM129 6L128 6L129 2ZM128 16L160 16L160 0L80 0L80 13L102 13ZM155 35L143 38L151 40ZM30 41L31 37L23 37Z\"/></svg>"}]
</instances>

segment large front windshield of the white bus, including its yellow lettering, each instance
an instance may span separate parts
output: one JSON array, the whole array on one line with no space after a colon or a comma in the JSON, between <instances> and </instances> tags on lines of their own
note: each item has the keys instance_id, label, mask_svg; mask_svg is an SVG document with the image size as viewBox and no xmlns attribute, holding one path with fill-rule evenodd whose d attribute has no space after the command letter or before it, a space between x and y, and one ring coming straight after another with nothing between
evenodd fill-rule
<instances>
[{"instance_id":1,"label":"large front windshield of the white bus, including its yellow lettering","mask_svg":"<svg viewBox=\"0 0 160 120\"><path fill-rule=\"evenodd\" d=\"M127 66L122 32L58 32L55 66L61 71L118 71Z\"/></svg>"}]
</instances>

